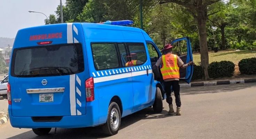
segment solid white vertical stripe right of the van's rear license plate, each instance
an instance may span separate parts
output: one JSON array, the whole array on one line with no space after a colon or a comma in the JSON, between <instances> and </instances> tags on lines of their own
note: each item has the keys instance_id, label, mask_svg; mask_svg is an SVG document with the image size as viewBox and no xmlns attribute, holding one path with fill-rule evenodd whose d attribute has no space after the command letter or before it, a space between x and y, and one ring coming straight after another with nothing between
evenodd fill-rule
<instances>
[{"instance_id":1,"label":"solid white vertical stripe right of the van's rear license plate","mask_svg":"<svg viewBox=\"0 0 256 139\"><path fill-rule=\"evenodd\" d=\"M70 75L69 77L69 99L70 99L70 114L76 115L76 93L75 93L75 77L76 75Z\"/></svg>"}]
</instances>

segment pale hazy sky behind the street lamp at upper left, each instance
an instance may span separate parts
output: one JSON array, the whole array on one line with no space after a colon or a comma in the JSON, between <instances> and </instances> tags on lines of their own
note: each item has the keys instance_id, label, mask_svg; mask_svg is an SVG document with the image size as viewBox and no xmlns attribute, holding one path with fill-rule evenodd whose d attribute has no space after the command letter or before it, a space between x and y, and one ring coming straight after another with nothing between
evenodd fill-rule
<instances>
[{"instance_id":1,"label":"pale hazy sky behind the street lamp at upper left","mask_svg":"<svg viewBox=\"0 0 256 139\"><path fill-rule=\"evenodd\" d=\"M44 25L45 15L55 14L58 5L60 0L0 0L0 37L15 38L19 29Z\"/></svg>"}]
</instances>

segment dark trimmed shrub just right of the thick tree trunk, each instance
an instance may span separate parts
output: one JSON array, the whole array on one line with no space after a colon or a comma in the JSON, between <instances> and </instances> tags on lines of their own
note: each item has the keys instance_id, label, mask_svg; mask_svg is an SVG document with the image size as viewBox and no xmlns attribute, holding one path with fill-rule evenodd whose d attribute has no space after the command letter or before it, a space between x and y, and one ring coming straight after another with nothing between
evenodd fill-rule
<instances>
[{"instance_id":1,"label":"dark trimmed shrub just right of the thick tree trunk","mask_svg":"<svg viewBox=\"0 0 256 139\"><path fill-rule=\"evenodd\" d=\"M235 64L231 61L212 62L208 67L210 78L230 77L235 71Z\"/></svg>"}]
</instances>

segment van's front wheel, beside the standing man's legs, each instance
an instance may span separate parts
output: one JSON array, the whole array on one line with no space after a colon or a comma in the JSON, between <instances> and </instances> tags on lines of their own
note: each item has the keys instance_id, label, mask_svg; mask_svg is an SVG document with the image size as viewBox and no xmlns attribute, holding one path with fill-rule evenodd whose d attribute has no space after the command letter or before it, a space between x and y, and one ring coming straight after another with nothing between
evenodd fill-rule
<instances>
[{"instance_id":1,"label":"van's front wheel, beside the standing man's legs","mask_svg":"<svg viewBox=\"0 0 256 139\"><path fill-rule=\"evenodd\" d=\"M156 88L156 98L153 104L153 109L155 113L161 113L163 111L163 99L162 99L162 93L159 87Z\"/></svg>"}]
</instances>

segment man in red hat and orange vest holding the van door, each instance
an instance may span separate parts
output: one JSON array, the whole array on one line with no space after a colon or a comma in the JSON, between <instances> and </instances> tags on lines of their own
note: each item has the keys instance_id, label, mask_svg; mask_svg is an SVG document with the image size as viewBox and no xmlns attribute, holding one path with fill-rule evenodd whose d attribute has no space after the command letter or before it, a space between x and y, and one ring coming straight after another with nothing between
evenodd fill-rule
<instances>
[{"instance_id":1,"label":"man in red hat and orange vest holding the van door","mask_svg":"<svg viewBox=\"0 0 256 139\"><path fill-rule=\"evenodd\" d=\"M172 54L172 46L171 44L167 44L164 46L163 51L165 51L165 55L160 57L156 66L161 67L161 73L164 80L164 90L166 92L166 102L169 104L169 112L168 114L174 113L173 105L172 105L172 97L171 97L171 86L174 91L175 102L177 106L176 115L181 115L181 101L180 101L180 85L179 85L179 68L186 68L189 65L194 64L194 62L189 62L188 64L184 64L183 61L177 56Z\"/></svg>"}]
</instances>

